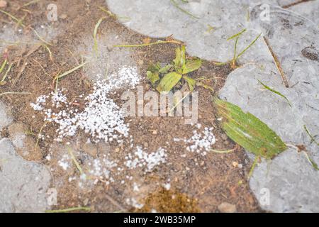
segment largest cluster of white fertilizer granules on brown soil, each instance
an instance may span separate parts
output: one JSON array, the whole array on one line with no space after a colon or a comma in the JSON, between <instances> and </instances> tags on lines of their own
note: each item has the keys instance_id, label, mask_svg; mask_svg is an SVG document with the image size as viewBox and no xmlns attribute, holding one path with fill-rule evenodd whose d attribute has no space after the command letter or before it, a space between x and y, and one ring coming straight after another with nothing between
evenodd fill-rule
<instances>
[{"instance_id":1,"label":"largest cluster of white fertilizer granules on brown soil","mask_svg":"<svg viewBox=\"0 0 319 227\"><path fill-rule=\"evenodd\" d=\"M128 137L128 123L125 123L122 109L109 97L109 93L121 87L134 88L140 83L140 76L135 67L122 67L108 79L99 79L94 84L94 91L86 96L85 108L79 112L68 103L65 89L57 89L48 96L39 96L35 104L30 104L35 111L45 114L45 121L57 123L57 138L76 135L79 129L99 141L123 143ZM50 99L51 103L47 102ZM58 111L52 111L57 109Z\"/></svg>"}]
</instances>

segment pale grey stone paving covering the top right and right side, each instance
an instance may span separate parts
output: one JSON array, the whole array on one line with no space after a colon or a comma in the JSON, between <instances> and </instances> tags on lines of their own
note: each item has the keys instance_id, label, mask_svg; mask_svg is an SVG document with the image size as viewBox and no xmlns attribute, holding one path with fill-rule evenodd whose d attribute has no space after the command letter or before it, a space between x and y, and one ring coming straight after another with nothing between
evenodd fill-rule
<instances>
[{"instance_id":1,"label":"pale grey stone paving covering the top right and right side","mask_svg":"<svg viewBox=\"0 0 319 227\"><path fill-rule=\"evenodd\" d=\"M262 37L240 57L243 66L228 76L220 98L250 111L276 131L284 142L306 145L313 160L319 163L318 145L310 143L303 128L306 125L310 133L319 134L318 1L297 4L289 9L280 6L291 4L293 1L290 0L190 0L188 4L178 1L198 19L179 11L169 0L106 2L118 16L130 17L130 21L123 21L125 26L152 37L173 35L186 42L190 55L206 60L231 60L235 41L227 38L244 28L247 31L240 36L238 52L262 33ZM262 4L269 5L261 8ZM265 7L269 7L269 17L262 13ZM208 29L209 26L214 29ZM289 81L288 89L284 87L264 37L281 62ZM282 97L264 90L257 79L284 94L292 107ZM289 148L274 158L268 167L265 161L256 167L250 187L264 209L318 211L318 179L318 172L313 170L306 157ZM269 204L264 203L264 189L269 190Z\"/></svg>"}]
</instances>

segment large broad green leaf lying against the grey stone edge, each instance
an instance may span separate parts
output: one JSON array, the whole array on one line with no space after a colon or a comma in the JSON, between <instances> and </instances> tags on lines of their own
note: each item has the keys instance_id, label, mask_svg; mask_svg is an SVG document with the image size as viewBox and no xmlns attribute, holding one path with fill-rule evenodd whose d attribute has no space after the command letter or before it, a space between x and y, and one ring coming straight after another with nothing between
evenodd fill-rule
<instances>
[{"instance_id":1,"label":"large broad green leaf lying against the grey stone edge","mask_svg":"<svg viewBox=\"0 0 319 227\"><path fill-rule=\"evenodd\" d=\"M271 128L250 113L227 101L215 99L218 116L227 135L250 153L272 159L286 150L286 144Z\"/></svg>"}]
</instances>

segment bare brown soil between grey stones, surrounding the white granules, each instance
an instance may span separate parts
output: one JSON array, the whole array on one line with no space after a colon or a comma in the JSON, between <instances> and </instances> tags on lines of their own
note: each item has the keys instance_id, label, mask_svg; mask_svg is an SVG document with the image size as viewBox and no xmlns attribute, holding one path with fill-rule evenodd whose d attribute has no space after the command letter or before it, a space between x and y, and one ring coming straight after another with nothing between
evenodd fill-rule
<instances>
[{"instance_id":1,"label":"bare brown soil between grey stones, surrounding the white granules","mask_svg":"<svg viewBox=\"0 0 319 227\"><path fill-rule=\"evenodd\" d=\"M27 10L18 9L28 1L10 1L9 6L4 9L17 18L23 18L25 25L33 27L40 25L40 21L47 21L45 9L51 1L40 1L26 7ZM59 19L52 26L59 29L59 35L53 38L50 46L52 60L43 46L38 45L11 45L7 47L9 62L14 62L9 79L0 87L3 92L30 92L30 95L6 95L0 96L11 107L11 114L16 123L23 123L28 131L28 136L36 142L37 135L43 128L43 115L35 112L30 103L42 95L48 94L55 89L54 78L59 72L65 72L78 64L81 58L76 55L77 47L82 45L83 38L91 35L99 18L106 16L106 20L99 28L99 35L107 35L108 31L121 35L125 43L142 43L146 37L128 30L116 21L116 18L108 16L99 10L98 6L105 6L105 1L55 1L59 15L65 14L67 18ZM17 10L18 9L18 10ZM3 27L11 21L8 16L0 15L0 26ZM28 30L27 28L25 29ZM25 32L26 32L25 31ZM30 31L29 31L30 33ZM174 59L174 49L177 45L162 44L152 45L146 48L133 48L133 61L138 65L140 74L145 75L150 62L170 62ZM23 64L27 63L26 67ZM198 123L203 127L214 127L213 133L217 138L214 149L229 150L235 148L233 153L217 154L209 153L206 156L186 153L181 143L174 143L173 138L189 138L194 126L185 125L183 118L177 117L136 117L128 118L130 122L130 134L134 137L135 145L143 145L149 150L157 150L162 147L169 153L167 164L158 167L150 175L143 172L121 172L116 175L113 184L106 185L99 181L96 185L84 188L78 186L78 182L69 182L69 177L79 175L77 168L63 171L57 166L57 161L65 152L65 146L53 141L56 137L54 124L47 124L42 133L50 138L40 141L40 149L43 158L41 162L48 165L52 170L52 187L58 190L58 205L54 209L64 209L74 206L91 206L92 211L114 212L127 211L131 207L125 203L125 199L135 196L139 201L145 202L145 208L140 211L218 211L218 205L223 202L235 204L237 211L251 212L260 211L256 199L252 195L247 182L247 172L251 163L248 161L242 148L233 143L221 130L216 119L216 111L213 108L212 96L223 87L231 68L226 66L215 66L213 62L204 62L200 70L193 74L194 78L205 77L206 83L210 84L214 92L197 87L199 94ZM19 75L20 74L20 75ZM152 89L150 84L143 80L145 92ZM86 77L83 70L69 74L60 80L59 87L67 89L69 97L77 98L80 94L89 94L92 88L91 80ZM120 101L119 101L120 102ZM84 107L84 101L79 99L79 109ZM156 133L155 133L156 132ZM1 135L9 136L8 130ZM79 133L77 141L72 142L74 151L83 147L86 139L84 133ZM82 141L82 142L81 142ZM80 165L84 165L87 157L96 157L101 153L109 152L103 150L103 145L94 145L87 153L75 153ZM110 144L111 157L123 160L125 152L129 150L128 144L118 148L116 144ZM32 153L32 150L30 151ZM47 154L52 154L52 160L45 160ZM33 157L31 154L30 157ZM38 157L38 155L37 155ZM38 161L38 160L37 160ZM242 168L233 165L233 162L241 163ZM140 192L133 192L133 182L121 184L121 179L131 175L138 179ZM162 189L162 184L170 179L172 189ZM177 196L177 200L171 203L169 197ZM190 204L190 205L189 205ZM135 210L138 211L138 210Z\"/></svg>"}]
</instances>

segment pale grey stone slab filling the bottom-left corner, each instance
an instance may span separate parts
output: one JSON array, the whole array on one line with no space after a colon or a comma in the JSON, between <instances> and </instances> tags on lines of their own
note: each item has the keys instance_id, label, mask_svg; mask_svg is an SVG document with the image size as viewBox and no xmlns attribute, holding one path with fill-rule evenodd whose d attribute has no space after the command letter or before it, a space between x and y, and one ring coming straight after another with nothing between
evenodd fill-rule
<instances>
[{"instance_id":1,"label":"pale grey stone slab filling the bottom-left corner","mask_svg":"<svg viewBox=\"0 0 319 227\"><path fill-rule=\"evenodd\" d=\"M50 172L16 155L9 140L0 140L0 212L43 212Z\"/></svg>"}]
</instances>

